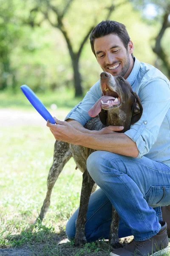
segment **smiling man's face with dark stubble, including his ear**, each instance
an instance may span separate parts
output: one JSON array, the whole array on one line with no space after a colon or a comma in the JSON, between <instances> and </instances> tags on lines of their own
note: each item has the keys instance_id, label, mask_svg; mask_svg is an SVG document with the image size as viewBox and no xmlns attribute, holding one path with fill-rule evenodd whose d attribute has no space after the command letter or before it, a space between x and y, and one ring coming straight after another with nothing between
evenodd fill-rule
<instances>
[{"instance_id":1,"label":"smiling man's face with dark stubble, including his ear","mask_svg":"<svg viewBox=\"0 0 170 256\"><path fill-rule=\"evenodd\" d=\"M109 34L94 40L94 50L103 71L127 79L133 68L132 41L126 49L118 35Z\"/></svg>"}]
</instances>

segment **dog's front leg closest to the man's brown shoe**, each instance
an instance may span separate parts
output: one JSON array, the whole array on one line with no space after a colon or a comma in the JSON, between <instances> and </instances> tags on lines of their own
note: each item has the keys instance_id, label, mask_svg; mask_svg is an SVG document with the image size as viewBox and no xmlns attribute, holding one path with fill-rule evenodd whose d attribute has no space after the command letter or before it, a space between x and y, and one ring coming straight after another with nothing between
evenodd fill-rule
<instances>
[{"instance_id":1,"label":"dog's front leg closest to the man's brown shoe","mask_svg":"<svg viewBox=\"0 0 170 256\"><path fill-rule=\"evenodd\" d=\"M114 207L112 207L112 221L111 221L111 230L109 234L109 241L111 246L114 249L123 247L122 244L119 243L118 229L119 229L119 215L117 214Z\"/></svg>"}]
</instances>

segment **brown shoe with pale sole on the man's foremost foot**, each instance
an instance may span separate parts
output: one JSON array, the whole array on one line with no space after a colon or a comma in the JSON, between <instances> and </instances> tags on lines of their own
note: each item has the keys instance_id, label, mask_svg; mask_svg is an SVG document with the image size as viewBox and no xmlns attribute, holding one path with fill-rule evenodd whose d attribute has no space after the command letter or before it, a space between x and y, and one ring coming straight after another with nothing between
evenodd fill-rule
<instances>
[{"instance_id":1,"label":"brown shoe with pale sole on the man's foremost foot","mask_svg":"<svg viewBox=\"0 0 170 256\"><path fill-rule=\"evenodd\" d=\"M123 248L113 250L110 256L148 256L162 255L170 252L167 237L167 224L160 221L161 230L155 236L144 241L135 241L134 239Z\"/></svg>"}]
</instances>

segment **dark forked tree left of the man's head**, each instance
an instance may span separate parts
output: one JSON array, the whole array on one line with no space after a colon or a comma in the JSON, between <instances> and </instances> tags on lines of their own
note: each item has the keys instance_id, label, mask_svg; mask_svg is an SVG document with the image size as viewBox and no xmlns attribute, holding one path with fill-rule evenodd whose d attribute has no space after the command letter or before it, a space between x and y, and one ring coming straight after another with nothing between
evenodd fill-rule
<instances>
[{"instance_id":1,"label":"dark forked tree left of the man's head","mask_svg":"<svg viewBox=\"0 0 170 256\"><path fill-rule=\"evenodd\" d=\"M71 4L73 2L74 0L67 0L66 4L63 5L61 8L59 7L61 6L59 4L59 1L56 3L56 1L54 2L52 0L37 0L36 6L30 10L30 15L26 23L31 25L32 27L36 25L40 26L43 19L45 19L45 20L48 20L51 26L60 30L60 32L65 38L65 41L68 47L68 52L71 58L71 63L72 63L73 72L74 72L75 96L82 96L81 75L79 72L79 59L82 53L82 49L85 46L85 43L92 29L96 26L97 14L96 16L94 14L95 18L93 19L92 24L88 26L85 32L85 35L82 37L79 47L76 51L74 49L75 41L71 41L70 34L64 22L65 16L67 15L68 10L70 9ZM114 5L113 0L109 1L108 6L105 7L106 12L105 12L105 17L103 17L103 19L109 19L109 17L111 16L111 13L116 9L116 7L123 3ZM38 13L39 14L41 13L43 15L43 17L40 17L39 21L37 19ZM101 17L100 17L100 20L101 20Z\"/></svg>"}]
</instances>

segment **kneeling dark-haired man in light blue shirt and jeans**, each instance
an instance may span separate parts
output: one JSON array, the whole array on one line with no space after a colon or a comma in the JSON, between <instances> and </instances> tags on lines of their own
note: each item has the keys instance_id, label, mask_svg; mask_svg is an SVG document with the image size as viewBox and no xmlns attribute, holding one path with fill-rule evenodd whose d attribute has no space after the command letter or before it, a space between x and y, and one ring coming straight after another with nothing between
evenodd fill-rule
<instances>
[{"instance_id":1,"label":"kneeling dark-haired man in light blue shirt and jeans","mask_svg":"<svg viewBox=\"0 0 170 256\"><path fill-rule=\"evenodd\" d=\"M133 57L133 43L123 24L102 21L91 32L90 41L102 70L123 76L139 95L141 119L125 133L116 133L122 130L116 126L86 130L88 110L102 96L98 81L68 114L67 122L56 119L56 125L48 122L47 126L56 140L97 150L87 160L88 172L101 188L89 201L87 240L108 239L113 205L120 216L119 237L132 234L134 239L110 255L152 255L168 246L161 206L170 204L170 81L155 67ZM77 214L66 226L70 239Z\"/></svg>"}]
</instances>

